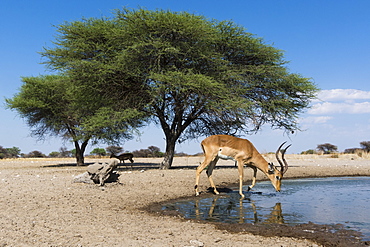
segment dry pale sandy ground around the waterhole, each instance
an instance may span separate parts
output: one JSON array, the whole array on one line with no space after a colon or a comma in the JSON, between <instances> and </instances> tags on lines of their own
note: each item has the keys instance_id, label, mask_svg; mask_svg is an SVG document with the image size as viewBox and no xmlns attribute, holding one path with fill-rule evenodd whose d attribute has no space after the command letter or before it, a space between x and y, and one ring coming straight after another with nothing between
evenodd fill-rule
<instances>
[{"instance_id":1,"label":"dry pale sandy ground around the waterhole","mask_svg":"<svg viewBox=\"0 0 370 247\"><path fill-rule=\"evenodd\" d=\"M370 160L357 156L286 158L290 164L285 176L288 178L370 176ZM203 157L175 158L174 169L159 170L161 159L138 158L132 170L125 166L118 169L119 183L104 187L72 183L74 176L86 171L86 166L77 167L74 159L0 160L0 246L321 245L305 236L253 235L146 210L164 201L194 196L195 168L202 160ZM237 183L233 162L219 163L220 168L214 171L216 185ZM258 174L258 180L265 179L261 172ZM246 168L245 175L248 184L252 170ZM200 191L205 192L208 187L204 172Z\"/></svg>"}]
</instances>

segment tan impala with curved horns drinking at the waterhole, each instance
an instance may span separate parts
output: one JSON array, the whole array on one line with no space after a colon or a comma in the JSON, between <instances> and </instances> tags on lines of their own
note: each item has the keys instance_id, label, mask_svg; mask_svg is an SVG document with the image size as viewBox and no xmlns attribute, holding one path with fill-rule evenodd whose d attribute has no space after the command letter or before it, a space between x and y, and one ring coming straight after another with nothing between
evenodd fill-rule
<instances>
[{"instance_id":1,"label":"tan impala with curved horns drinking at the waterhole","mask_svg":"<svg viewBox=\"0 0 370 247\"><path fill-rule=\"evenodd\" d=\"M275 187L276 191L280 191L281 179L283 178L284 173L288 170L288 163L284 158L286 150L290 145L285 148L282 153L282 160L279 159L279 152L281 147L285 144L280 145L278 150L275 153L276 159L279 162L281 169L280 171L272 163L268 163L262 155L257 151L253 144L246 140L229 135L213 135L204 139L201 143L205 159L196 170L196 179L195 179L195 194L198 196L198 184L199 177L204 168L207 168L207 176L211 187L215 194L219 194L216 189L216 186L212 179L212 171L216 166L218 159L230 159L234 160L238 165L239 172L239 194L241 197L244 197L242 192L243 187L243 167L244 165L251 167L253 169L253 179L252 185L248 187L248 191L253 188L256 184L256 175L257 168L261 170L270 180L272 185Z\"/></svg>"}]
</instances>

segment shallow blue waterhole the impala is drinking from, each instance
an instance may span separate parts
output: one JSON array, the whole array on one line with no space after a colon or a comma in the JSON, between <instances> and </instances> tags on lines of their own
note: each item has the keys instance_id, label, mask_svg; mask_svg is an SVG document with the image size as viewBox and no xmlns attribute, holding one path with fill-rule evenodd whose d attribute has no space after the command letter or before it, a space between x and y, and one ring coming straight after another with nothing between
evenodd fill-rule
<instances>
[{"instance_id":1,"label":"shallow blue waterhole the impala is drinking from","mask_svg":"<svg viewBox=\"0 0 370 247\"><path fill-rule=\"evenodd\" d=\"M244 195L240 200L235 189L168 204L163 209L177 210L185 218L224 223L339 223L370 240L370 177L285 179L280 193L266 181Z\"/></svg>"}]
</instances>

